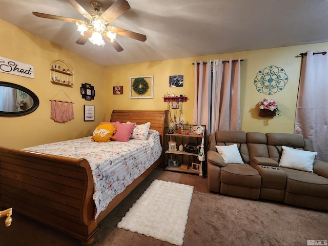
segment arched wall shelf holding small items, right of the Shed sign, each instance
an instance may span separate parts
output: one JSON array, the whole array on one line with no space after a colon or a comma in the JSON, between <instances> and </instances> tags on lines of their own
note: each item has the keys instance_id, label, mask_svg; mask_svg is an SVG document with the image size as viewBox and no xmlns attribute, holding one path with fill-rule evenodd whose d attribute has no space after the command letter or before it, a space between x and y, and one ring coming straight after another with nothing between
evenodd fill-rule
<instances>
[{"instance_id":1,"label":"arched wall shelf holding small items, right of the Shed sign","mask_svg":"<svg viewBox=\"0 0 328 246\"><path fill-rule=\"evenodd\" d=\"M65 60L54 60L50 64L50 81L53 84L74 86L74 71Z\"/></svg>"}]
</instances>

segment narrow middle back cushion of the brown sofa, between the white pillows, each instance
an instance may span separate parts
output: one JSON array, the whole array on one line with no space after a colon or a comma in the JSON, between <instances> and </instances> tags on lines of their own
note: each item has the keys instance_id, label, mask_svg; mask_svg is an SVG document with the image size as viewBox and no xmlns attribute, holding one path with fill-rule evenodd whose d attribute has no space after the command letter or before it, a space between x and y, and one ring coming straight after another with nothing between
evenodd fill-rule
<instances>
[{"instance_id":1,"label":"narrow middle back cushion of the brown sofa, between the white pillows","mask_svg":"<svg viewBox=\"0 0 328 246\"><path fill-rule=\"evenodd\" d=\"M261 132L248 132L247 145L252 157L269 157L267 136Z\"/></svg>"}]
</instances>

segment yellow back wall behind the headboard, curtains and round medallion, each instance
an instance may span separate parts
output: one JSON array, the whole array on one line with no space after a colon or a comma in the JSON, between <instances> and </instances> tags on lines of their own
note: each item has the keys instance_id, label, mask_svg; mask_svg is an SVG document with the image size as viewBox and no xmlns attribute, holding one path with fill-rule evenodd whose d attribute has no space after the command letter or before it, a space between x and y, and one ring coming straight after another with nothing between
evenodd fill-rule
<instances>
[{"instance_id":1,"label":"yellow back wall behind the headboard, curtains and round medallion","mask_svg":"<svg viewBox=\"0 0 328 246\"><path fill-rule=\"evenodd\" d=\"M227 54L207 55L154 61L148 63L137 63L120 66L107 67L106 91L109 92L106 107L106 119L110 118L113 109L134 110L163 110L167 109L167 103L163 102L163 95L167 92L183 94L188 96L188 101L183 103L183 118L185 124L192 124L194 105L194 63L195 60L207 61L208 59L244 59L241 63L241 128L243 131L259 132L294 132L294 118L300 74L301 58L296 57L308 50L326 50L328 43L301 45L293 47L264 49L255 51L244 51ZM285 69L289 76L285 88L271 96L257 92L254 79L257 72L265 67L274 65ZM169 76L183 74L183 87L170 88ZM130 99L130 79L133 76L154 76L154 98L153 99ZM113 86L124 86L123 95L113 95ZM263 118L258 116L258 103L264 97L272 98L279 104L281 116ZM173 111L171 111L173 112ZM173 115L172 115L173 117Z\"/></svg>"}]
</instances>

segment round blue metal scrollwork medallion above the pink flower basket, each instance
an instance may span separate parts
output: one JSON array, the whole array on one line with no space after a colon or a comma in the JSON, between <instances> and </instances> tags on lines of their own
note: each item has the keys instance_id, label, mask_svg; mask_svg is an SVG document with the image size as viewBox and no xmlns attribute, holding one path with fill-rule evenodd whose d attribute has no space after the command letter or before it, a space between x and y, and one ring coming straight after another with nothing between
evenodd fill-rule
<instances>
[{"instance_id":1,"label":"round blue metal scrollwork medallion above the pink flower basket","mask_svg":"<svg viewBox=\"0 0 328 246\"><path fill-rule=\"evenodd\" d=\"M254 79L256 90L267 95L273 95L282 91L287 82L288 75L286 71L276 66L261 69Z\"/></svg>"}]
</instances>

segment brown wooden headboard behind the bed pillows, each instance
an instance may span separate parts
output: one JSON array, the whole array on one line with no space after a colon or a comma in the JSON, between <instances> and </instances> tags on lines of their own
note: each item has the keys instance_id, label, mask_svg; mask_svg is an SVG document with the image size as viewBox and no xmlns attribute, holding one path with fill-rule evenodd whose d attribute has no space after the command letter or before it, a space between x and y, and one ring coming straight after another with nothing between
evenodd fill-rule
<instances>
[{"instance_id":1,"label":"brown wooden headboard behind the bed pillows","mask_svg":"<svg viewBox=\"0 0 328 246\"><path fill-rule=\"evenodd\" d=\"M166 110L113 110L110 121L131 121L136 122L137 125L150 122L150 129L159 132L163 144L166 112Z\"/></svg>"}]
</instances>

